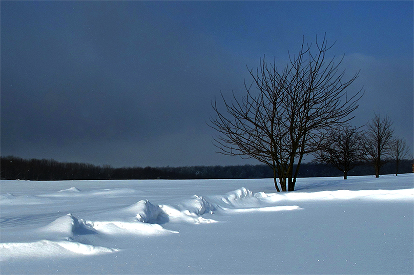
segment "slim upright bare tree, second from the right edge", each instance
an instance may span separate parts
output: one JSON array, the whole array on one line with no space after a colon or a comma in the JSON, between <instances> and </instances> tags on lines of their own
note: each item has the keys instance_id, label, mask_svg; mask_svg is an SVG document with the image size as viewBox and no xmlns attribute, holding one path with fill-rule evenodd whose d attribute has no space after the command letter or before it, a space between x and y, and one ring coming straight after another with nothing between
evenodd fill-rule
<instances>
[{"instance_id":1,"label":"slim upright bare tree, second from the right edge","mask_svg":"<svg viewBox=\"0 0 414 275\"><path fill-rule=\"evenodd\" d=\"M381 119L375 114L374 118L367 124L365 130L366 154L368 161L371 161L375 168L375 177L380 177L380 168L391 157L393 145L393 122L388 116Z\"/></svg>"}]
</instances>

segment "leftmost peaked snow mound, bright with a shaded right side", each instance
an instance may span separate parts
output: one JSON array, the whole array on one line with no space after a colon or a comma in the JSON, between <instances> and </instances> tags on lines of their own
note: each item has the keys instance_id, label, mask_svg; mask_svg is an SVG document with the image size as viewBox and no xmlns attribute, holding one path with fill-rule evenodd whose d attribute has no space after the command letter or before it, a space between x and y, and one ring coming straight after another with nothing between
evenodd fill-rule
<instances>
[{"instance_id":1,"label":"leftmost peaked snow mound, bright with a shaded right side","mask_svg":"<svg viewBox=\"0 0 414 275\"><path fill-rule=\"evenodd\" d=\"M41 232L54 233L62 237L73 237L74 235L96 234L96 230L87 225L84 220L79 220L72 214L57 218L50 224L40 229Z\"/></svg>"}]
</instances>

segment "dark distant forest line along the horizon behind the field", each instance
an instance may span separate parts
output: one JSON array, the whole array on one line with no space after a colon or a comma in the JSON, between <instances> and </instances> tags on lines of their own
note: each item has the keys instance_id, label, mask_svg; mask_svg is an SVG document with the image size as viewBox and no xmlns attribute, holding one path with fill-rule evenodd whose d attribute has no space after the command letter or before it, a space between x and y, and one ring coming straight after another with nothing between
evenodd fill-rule
<instances>
[{"instance_id":1,"label":"dark distant forest line along the horizon behind the field","mask_svg":"<svg viewBox=\"0 0 414 275\"><path fill-rule=\"evenodd\" d=\"M370 163L360 163L348 175L373 175ZM382 172L393 174L395 162L384 164ZM401 160L400 172L411 173L412 161ZM341 176L342 172L324 163L304 163L298 177ZM129 179L260 179L273 178L273 170L265 165L184 166L184 167L122 167L96 166L53 159L22 159L1 157L2 180L129 180Z\"/></svg>"}]
</instances>

